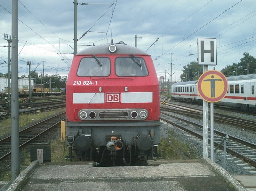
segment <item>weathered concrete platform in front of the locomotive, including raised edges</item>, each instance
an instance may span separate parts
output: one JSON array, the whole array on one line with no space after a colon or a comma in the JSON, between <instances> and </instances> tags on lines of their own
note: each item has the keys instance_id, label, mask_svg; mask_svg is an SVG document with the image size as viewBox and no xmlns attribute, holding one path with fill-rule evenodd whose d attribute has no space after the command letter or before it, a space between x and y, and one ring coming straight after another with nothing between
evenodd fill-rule
<instances>
[{"instance_id":1,"label":"weathered concrete platform in front of the locomotive, including raised edges","mask_svg":"<svg viewBox=\"0 0 256 191\"><path fill-rule=\"evenodd\" d=\"M33 161L7 190L246 190L208 158L157 160L149 163L160 165L93 167L93 162L39 165Z\"/></svg>"}]
</instances>

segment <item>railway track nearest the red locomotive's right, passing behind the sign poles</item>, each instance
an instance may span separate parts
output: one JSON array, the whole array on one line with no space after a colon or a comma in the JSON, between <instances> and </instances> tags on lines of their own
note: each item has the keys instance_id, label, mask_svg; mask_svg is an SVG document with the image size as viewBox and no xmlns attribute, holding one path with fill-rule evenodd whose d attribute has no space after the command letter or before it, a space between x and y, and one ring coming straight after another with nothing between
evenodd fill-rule
<instances>
[{"instance_id":1,"label":"railway track nearest the red locomotive's right, passing behind the sign poles","mask_svg":"<svg viewBox=\"0 0 256 191\"><path fill-rule=\"evenodd\" d=\"M183 118L178 118L169 113L161 111L161 120L165 121L176 128L182 129L189 134L192 134L200 139L203 139L203 126L193 123L191 121L185 120ZM214 130L214 145L217 146L220 141L226 136L222 132ZM229 140L227 141L227 152L230 154L241 158L248 164L256 167L256 145L250 142L238 139L234 136L228 135ZM210 137L210 132L209 132ZM209 139L210 140L210 139Z\"/></svg>"}]
</instances>

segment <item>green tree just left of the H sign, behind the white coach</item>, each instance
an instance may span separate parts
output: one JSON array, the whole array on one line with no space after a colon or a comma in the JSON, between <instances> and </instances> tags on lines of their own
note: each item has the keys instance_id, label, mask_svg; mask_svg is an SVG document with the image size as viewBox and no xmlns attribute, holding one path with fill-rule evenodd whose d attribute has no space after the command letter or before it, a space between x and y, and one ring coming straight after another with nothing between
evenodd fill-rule
<instances>
[{"instance_id":1,"label":"green tree just left of the H sign, behind the white coach","mask_svg":"<svg viewBox=\"0 0 256 191\"><path fill-rule=\"evenodd\" d=\"M198 77L203 73L203 66L199 66L197 62L190 62L188 65L183 66L182 72L180 75L182 81L198 80Z\"/></svg>"}]
</instances>

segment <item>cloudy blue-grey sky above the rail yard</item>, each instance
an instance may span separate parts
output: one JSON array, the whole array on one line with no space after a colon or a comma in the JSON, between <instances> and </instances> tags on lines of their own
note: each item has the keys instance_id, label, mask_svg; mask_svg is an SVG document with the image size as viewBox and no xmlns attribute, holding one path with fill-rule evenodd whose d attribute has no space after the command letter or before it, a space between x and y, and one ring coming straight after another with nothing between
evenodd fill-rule
<instances>
[{"instance_id":1,"label":"cloudy blue-grey sky above the rail yard","mask_svg":"<svg viewBox=\"0 0 256 191\"><path fill-rule=\"evenodd\" d=\"M77 37L89 31L78 41L78 52L111 39L134 46L136 34L137 47L152 56L158 77L166 71L170 78L172 55L172 81L180 81L183 66L197 61L197 38L217 39L216 70L239 62L244 52L256 56L255 0L78 0L78 4ZM46 74L68 75L74 52L73 0L19 0L18 9L19 75L28 76L26 61L39 74L44 65ZM0 0L1 73L8 71L4 34L12 34L11 13L12 1Z\"/></svg>"}]
</instances>

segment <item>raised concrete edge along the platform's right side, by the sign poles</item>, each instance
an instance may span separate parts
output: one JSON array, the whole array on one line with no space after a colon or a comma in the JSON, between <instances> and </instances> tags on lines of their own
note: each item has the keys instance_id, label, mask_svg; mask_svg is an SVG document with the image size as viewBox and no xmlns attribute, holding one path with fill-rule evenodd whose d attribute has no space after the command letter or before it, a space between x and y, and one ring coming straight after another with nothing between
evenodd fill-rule
<instances>
[{"instance_id":1,"label":"raised concrete edge along the platform's right side, by the sign poles","mask_svg":"<svg viewBox=\"0 0 256 191\"><path fill-rule=\"evenodd\" d=\"M210 167L210 169L219 175L228 186L235 191L248 191L241 185L233 176L231 176L224 168L214 163L209 158L203 158L203 163Z\"/></svg>"}]
</instances>

